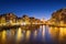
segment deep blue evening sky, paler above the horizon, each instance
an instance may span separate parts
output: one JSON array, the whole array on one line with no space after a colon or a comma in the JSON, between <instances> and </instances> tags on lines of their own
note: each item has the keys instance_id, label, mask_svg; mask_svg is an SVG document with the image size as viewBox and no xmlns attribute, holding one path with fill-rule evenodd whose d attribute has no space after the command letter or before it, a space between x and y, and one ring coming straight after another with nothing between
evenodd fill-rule
<instances>
[{"instance_id":1,"label":"deep blue evening sky, paler above the horizon","mask_svg":"<svg viewBox=\"0 0 66 44\"><path fill-rule=\"evenodd\" d=\"M0 14L12 12L18 16L28 14L47 20L62 8L66 8L66 0L0 0Z\"/></svg>"}]
</instances>

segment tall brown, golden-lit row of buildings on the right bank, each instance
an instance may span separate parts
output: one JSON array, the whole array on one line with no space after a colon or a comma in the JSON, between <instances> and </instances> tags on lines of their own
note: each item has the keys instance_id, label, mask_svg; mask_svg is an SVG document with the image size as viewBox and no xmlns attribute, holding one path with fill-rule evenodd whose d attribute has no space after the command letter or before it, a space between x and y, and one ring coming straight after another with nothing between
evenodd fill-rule
<instances>
[{"instance_id":1,"label":"tall brown, golden-lit row of buildings on the right bank","mask_svg":"<svg viewBox=\"0 0 66 44\"><path fill-rule=\"evenodd\" d=\"M47 23L66 26L66 8L54 11Z\"/></svg>"}]
</instances>

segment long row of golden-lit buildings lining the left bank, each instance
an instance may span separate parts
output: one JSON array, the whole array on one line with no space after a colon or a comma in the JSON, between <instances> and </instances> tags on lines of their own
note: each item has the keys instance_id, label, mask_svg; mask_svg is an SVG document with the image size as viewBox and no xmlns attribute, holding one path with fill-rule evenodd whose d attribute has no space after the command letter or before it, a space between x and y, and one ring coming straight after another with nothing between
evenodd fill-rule
<instances>
[{"instance_id":1,"label":"long row of golden-lit buildings lining the left bank","mask_svg":"<svg viewBox=\"0 0 66 44\"><path fill-rule=\"evenodd\" d=\"M35 19L33 16L28 16L24 14L23 16L19 18L14 13L6 13L6 14L0 14L0 24L37 24L42 23L41 20Z\"/></svg>"}]
</instances>

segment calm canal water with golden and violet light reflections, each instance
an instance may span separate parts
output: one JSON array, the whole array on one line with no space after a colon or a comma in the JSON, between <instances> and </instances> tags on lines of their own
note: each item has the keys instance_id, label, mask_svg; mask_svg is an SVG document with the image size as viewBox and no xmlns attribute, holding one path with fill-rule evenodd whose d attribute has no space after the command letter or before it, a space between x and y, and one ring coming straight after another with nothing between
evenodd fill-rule
<instances>
[{"instance_id":1,"label":"calm canal water with golden and violet light reflections","mask_svg":"<svg viewBox=\"0 0 66 44\"><path fill-rule=\"evenodd\" d=\"M66 44L66 28L40 25L0 31L0 44Z\"/></svg>"}]
</instances>

